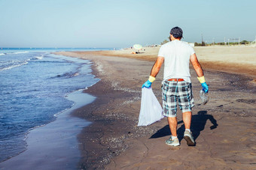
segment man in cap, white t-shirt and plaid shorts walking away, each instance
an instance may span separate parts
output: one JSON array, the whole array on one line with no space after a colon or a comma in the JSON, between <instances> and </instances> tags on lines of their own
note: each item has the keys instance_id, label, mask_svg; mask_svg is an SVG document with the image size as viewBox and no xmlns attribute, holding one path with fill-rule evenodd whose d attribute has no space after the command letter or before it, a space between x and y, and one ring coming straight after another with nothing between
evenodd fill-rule
<instances>
[{"instance_id":1,"label":"man in cap, white t-shirt and plaid shorts walking away","mask_svg":"<svg viewBox=\"0 0 256 170\"><path fill-rule=\"evenodd\" d=\"M163 44L158 52L157 61L151 70L151 75L142 88L150 88L159 73L164 61L164 73L162 82L163 115L167 117L172 136L166 140L167 145L180 145L177 138L177 100L182 111L184 122L184 139L187 145L194 146L194 137L190 132L190 124L194 106L194 97L191 89L189 62L197 73L203 91L208 92L208 85L204 78L202 67L197 60L194 49L186 42L181 41L183 31L175 27L170 31L170 42Z\"/></svg>"}]
</instances>

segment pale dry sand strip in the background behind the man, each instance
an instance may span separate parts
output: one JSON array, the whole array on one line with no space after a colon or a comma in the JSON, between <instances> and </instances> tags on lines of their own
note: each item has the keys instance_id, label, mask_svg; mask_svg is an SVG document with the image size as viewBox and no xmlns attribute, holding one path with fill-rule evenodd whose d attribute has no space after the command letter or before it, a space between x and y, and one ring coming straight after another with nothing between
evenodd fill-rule
<instances>
[{"instance_id":1,"label":"pale dry sand strip in the background behind the man","mask_svg":"<svg viewBox=\"0 0 256 170\"><path fill-rule=\"evenodd\" d=\"M124 49L101 52L78 52L90 55L122 56L155 61L160 47L144 47L139 54L132 54L136 49ZM253 46L196 46L197 58L203 68L233 72L256 77L256 47Z\"/></svg>"}]
</instances>

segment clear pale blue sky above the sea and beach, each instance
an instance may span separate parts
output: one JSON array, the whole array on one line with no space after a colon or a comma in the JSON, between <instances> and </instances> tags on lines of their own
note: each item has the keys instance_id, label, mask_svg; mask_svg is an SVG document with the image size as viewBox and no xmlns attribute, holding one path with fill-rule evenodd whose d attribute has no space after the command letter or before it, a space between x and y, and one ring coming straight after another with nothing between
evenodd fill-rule
<instances>
[{"instance_id":1,"label":"clear pale blue sky above the sea and beach","mask_svg":"<svg viewBox=\"0 0 256 170\"><path fill-rule=\"evenodd\" d=\"M255 0L0 0L0 47L128 47L254 40Z\"/></svg>"}]
</instances>

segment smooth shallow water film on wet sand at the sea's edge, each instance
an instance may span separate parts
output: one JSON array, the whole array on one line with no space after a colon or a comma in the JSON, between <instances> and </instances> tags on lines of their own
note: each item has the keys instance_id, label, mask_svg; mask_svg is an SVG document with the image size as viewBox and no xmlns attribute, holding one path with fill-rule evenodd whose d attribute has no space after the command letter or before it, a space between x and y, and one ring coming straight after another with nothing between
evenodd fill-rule
<instances>
[{"instance_id":1,"label":"smooth shallow water film on wet sand at the sea's edge","mask_svg":"<svg viewBox=\"0 0 256 170\"><path fill-rule=\"evenodd\" d=\"M55 115L55 121L29 130L26 150L0 163L0 169L75 169L80 160L73 156L80 155L76 136L91 122L72 116L72 112L92 103L95 97L72 91L66 98L75 104Z\"/></svg>"}]
</instances>

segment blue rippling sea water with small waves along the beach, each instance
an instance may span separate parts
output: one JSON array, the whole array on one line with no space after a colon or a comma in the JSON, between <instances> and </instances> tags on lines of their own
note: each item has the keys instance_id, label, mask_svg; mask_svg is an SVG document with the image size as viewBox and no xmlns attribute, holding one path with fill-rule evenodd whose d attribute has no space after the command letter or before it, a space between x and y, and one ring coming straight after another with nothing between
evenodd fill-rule
<instances>
[{"instance_id":1,"label":"blue rippling sea water with small waves along the beach","mask_svg":"<svg viewBox=\"0 0 256 170\"><path fill-rule=\"evenodd\" d=\"M0 163L26 150L29 130L72 107L66 95L99 81L90 61L50 53L59 50L102 49L0 49Z\"/></svg>"}]
</instances>

